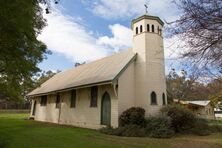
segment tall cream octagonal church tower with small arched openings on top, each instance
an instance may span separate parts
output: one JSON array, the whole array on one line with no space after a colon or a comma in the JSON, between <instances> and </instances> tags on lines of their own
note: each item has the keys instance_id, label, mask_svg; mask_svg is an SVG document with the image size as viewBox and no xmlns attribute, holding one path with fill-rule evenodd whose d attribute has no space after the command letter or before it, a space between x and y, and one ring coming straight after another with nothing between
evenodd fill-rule
<instances>
[{"instance_id":1,"label":"tall cream octagonal church tower with small arched openings on top","mask_svg":"<svg viewBox=\"0 0 222 148\"><path fill-rule=\"evenodd\" d=\"M163 47L163 21L143 15L132 20L135 62L135 104L155 115L167 104Z\"/></svg>"}]
</instances>

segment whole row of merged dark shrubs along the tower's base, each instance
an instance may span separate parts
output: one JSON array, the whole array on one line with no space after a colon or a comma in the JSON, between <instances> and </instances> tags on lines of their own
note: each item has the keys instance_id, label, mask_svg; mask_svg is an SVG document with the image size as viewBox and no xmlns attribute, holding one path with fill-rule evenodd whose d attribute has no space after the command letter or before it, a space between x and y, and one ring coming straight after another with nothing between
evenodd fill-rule
<instances>
[{"instance_id":1,"label":"whole row of merged dark shrubs along the tower's base","mask_svg":"<svg viewBox=\"0 0 222 148\"><path fill-rule=\"evenodd\" d=\"M209 125L205 119L195 118L194 114L178 105L167 106L162 110L163 116L149 117L145 119L145 110L132 107L120 116L121 126L103 128L100 131L109 135L126 137L155 137L169 138L175 132L195 135L209 135L211 132L222 131L220 125Z\"/></svg>"}]
</instances>

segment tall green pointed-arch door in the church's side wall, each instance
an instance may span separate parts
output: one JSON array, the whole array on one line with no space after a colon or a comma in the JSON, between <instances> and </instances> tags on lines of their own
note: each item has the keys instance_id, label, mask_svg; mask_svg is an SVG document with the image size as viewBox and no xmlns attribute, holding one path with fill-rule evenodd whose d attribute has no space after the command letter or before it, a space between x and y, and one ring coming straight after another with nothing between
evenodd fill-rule
<instances>
[{"instance_id":1,"label":"tall green pointed-arch door in the church's side wall","mask_svg":"<svg viewBox=\"0 0 222 148\"><path fill-rule=\"evenodd\" d=\"M101 124L110 125L111 123L111 100L110 95L105 92L101 102Z\"/></svg>"}]
</instances>

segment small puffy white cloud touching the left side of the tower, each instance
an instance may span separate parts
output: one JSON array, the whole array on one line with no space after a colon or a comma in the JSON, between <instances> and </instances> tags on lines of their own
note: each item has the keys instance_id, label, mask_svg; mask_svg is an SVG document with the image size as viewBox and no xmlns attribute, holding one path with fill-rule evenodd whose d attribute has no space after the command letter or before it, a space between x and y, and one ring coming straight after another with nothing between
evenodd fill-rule
<instances>
[{"instance_id":1,"label":"small puffy white cloud touching the left side of the tower","mask_svg":"<svg viewBox=\"0 0 222 148\"><path fill-rule=\"evenodd\" d=\"M132 30L120 24L109 26L113 36L102 36L97 43L112 48L115 52L132 47Z\"/></svg>"}]
</instances>

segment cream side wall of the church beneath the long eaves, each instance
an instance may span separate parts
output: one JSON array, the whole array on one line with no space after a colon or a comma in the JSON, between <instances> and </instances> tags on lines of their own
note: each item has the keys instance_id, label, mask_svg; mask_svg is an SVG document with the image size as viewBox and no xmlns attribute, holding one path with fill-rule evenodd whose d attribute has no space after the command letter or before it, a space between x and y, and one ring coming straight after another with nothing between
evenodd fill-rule
<instances>
[{"instance_id":1,"label":"cream side wall of the church beneath the long eaves","mask_svg":"<svg viewBox=\"0 0 222 148\"><path fill-rule=\"evenodd\" d=\"M70 91L60 93L62 101L60 119L59 108L55 108L56 95L48 95L46 106L40 106L40 97L33 98L32 104L34 100L37 101L36 112L35 116L30 116L37 121L98 129L103 127L100 125L101 98L106 91L111 97L111 126L118 127L118 99L111 84L98 86L97 107L90 107L90 88L82 88L77 89L75 108L70 108Z\"/></svg>"}]
</instances>

